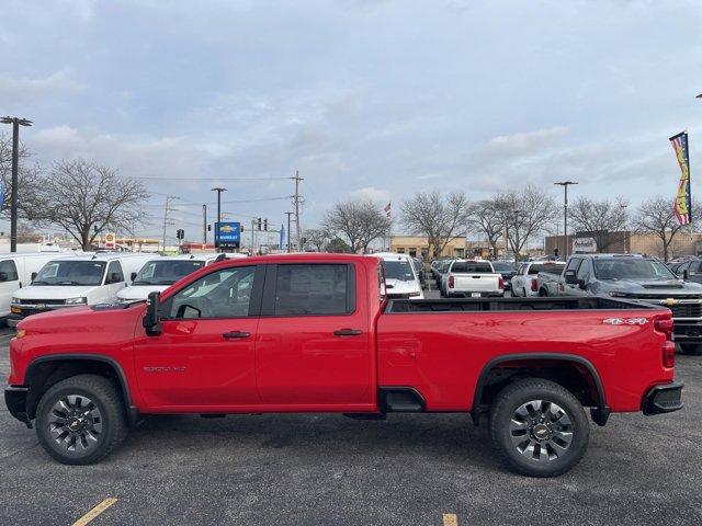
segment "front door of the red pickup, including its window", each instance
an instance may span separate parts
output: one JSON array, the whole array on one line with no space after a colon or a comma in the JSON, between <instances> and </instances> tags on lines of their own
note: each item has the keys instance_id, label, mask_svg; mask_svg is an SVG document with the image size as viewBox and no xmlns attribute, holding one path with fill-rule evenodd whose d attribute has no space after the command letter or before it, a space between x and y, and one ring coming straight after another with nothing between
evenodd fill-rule
<instances>
[{"instance_id":1,"label":"front door of the red pickup, including its window","mask_svg":"<svg viewBox=\"0 0 702 526\"><path fill-rule=\"evenodd\" d=\"M162 333L135 345L139 389L151 408L226 412L260 402L253 353L263 272L217 270L163 301Z\"/></svg>"}]
</instances>

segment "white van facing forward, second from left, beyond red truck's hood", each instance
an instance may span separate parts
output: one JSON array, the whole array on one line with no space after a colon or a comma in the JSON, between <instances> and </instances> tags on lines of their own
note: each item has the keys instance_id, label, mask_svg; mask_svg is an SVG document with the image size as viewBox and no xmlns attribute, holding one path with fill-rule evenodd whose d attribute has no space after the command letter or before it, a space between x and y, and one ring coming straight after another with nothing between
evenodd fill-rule
<instances>
[{"instance_id":1,"label":"white van facing forward, second from left, beyond red truck's hood","mask_svg":"<svg viewBox=\"0 0 702 526\"><path fill-rule=\"evenodd\" d=\"M16 327L37 312L113 301L132 282L132 274L152 259L154 254L115 252L53 258L12 296L8 325Z\"/></svg>"}]
</instances>

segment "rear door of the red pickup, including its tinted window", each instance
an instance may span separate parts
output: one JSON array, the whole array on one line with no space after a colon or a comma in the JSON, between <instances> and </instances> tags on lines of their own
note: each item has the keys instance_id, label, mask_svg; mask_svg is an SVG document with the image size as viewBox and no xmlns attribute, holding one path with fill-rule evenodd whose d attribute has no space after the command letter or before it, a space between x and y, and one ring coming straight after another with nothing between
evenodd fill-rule
<instances>
[{"instance_id":1,"label":"rear door of the red pickup, including its tinted window","mask_svg":"<svg viewBox=\"0 0 702 526\"><path fill-rule=\"evenodd\" d=\"M361 409L374 402L364 268L268 265L257 341L263 403L281 410ZM375 276L373 276L375 279Z\"/></svg>"}]
</instances>

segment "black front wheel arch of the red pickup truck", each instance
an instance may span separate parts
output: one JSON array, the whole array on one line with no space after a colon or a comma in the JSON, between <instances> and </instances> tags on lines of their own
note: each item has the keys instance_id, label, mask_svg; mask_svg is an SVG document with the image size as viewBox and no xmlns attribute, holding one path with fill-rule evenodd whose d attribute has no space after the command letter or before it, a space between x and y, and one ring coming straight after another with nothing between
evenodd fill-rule
<instances>
[{"instance_id":1,"label":"black front wheel arch of the red pickup truck","mask_svg":"<svg viewBox=\"0 0 702 526\"><path fill-rule=\"evenodd\" d=\"M41 356L32 361L24 376L29 386L26 413L30 421L36 415L39 399L54 384L80 374L97 374L116 380L129 424L139 419L133 404L124 369L120 363L100 354L57 354Z\"/></svg>"}]
</instances>

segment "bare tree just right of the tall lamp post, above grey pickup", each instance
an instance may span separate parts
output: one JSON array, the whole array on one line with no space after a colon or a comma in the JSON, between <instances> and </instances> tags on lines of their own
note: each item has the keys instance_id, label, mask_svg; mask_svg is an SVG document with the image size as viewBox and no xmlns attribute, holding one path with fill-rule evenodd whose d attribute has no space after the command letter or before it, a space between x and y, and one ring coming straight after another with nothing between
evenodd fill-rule
<instances>
[{"instance_id":1,"label":"bare tree just right of the tall lamp post, above grey pickup","mask_svg":"<svg viewBox=\"0 0 702 526\"><path fill-rule=\"evenodd\" d=\"M577 231L587 232L595 240L597 251L603 252L621 241L629 227L629 203L623 197L595 201L580 197L568 208L568 217Z\"/></svg>"}]
</instances>

